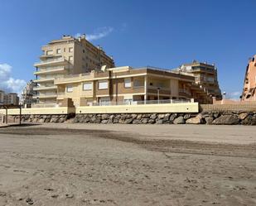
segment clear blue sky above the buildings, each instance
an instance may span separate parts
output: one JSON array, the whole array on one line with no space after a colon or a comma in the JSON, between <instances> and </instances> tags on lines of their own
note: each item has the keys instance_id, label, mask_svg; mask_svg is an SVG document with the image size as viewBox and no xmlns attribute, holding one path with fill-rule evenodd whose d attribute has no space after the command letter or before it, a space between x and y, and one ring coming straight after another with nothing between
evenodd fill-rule
<instances>
[{"instance_id":1,"label":"clear blue sky above the buildings","mask_svg":"<svg viewBox=\"0 0 256 206\"><path fill-rule=\"evenodd\" d=\"M238 97L256 54L255 7L255 0L1 0L0 87L33 79L48 41L86 33L116 65L215 63L222 91Z\"/></svg>"}]
</instances>

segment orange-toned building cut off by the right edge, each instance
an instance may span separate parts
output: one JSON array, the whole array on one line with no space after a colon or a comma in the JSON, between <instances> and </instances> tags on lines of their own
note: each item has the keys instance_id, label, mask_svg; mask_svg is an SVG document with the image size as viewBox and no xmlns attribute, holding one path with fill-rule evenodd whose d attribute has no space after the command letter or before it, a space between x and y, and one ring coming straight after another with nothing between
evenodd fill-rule
<instances>
[{"instance_id":1,"label":"orange-toned building cut off by the right edge","mask_svg":"<svg viewBox=\"0 0 256 206\"><path fill-rule=\"evenodd\" d=\"M241 95L244 101L256 100L256 55L249 59L244 77L244 89Z\"/></svg>"}]
</instances>

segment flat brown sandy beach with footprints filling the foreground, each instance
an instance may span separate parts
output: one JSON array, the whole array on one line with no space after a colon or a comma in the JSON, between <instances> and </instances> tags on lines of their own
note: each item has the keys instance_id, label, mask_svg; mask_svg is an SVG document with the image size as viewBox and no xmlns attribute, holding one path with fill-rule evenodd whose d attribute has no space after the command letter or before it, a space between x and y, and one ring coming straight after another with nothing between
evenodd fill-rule
<instances>
[{"instance_id":1,"label":"flat brown sandy beach with footprints filling the foreground","mask_svg":"<svg viewBox=\"0 0 256 206\"><path fill-rule=\"evenodd\" d=\"M0 206L256 205L256 127L0 127Z\"/></svg>"}]
</instances>

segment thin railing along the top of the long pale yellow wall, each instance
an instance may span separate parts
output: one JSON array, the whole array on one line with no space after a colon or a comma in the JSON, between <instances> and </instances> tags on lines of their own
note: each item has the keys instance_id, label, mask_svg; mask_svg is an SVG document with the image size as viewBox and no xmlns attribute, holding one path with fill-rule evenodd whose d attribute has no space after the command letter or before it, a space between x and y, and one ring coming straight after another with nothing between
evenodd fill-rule
<instances>
[{"instance_id":1,"label":"thin railing along the top of the long pale yellow wall","mask_svg":"<svg viewBox=\"0 0 256 206\"><path fill-rule=\"evenodd\" d=\"M92 103L92 106L142 105L142 104L191 103L191 102L192 102L191 99L159 99L159 100L146 100L146 101Z\"/></svg>"}]
</instances>

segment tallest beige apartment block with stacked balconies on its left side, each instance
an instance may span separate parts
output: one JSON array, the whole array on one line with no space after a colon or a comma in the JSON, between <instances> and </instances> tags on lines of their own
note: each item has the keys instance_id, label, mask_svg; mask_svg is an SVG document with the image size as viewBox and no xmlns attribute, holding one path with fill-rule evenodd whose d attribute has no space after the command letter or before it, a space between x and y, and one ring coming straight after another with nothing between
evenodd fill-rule
<instances>
[{"instance_id":1,"label":"tallest beige apartment block with stacked balconies on its left side","mask_svg":"<svg viewBox=\"0 0 256 206\"><path fill-rule=\"evenodd\" d=\"M56 104L57 87L54 79L70 74L81 74L102 66L114 67L114 60L101 47L92 45L85 35L78 38L62 36L41 47L42 55L36 67L36 102L46 105Z\"/></svg>"}]
</instances>

